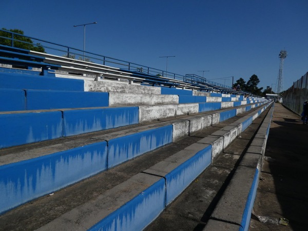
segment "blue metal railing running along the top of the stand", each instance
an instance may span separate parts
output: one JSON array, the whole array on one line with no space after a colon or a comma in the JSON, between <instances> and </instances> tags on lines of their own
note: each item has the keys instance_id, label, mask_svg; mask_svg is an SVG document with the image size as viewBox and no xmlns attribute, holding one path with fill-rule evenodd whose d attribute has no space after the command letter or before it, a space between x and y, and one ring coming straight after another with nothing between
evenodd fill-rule
<instances>
[{"instance_id":1,"label":"blue metal railing running along the top of the stand","mask_svg":"<svg viewBox=\"0 0 308 231\"><path fill-rule=\"evenodd\" d=\"M123 70L139 71L139 72L151 74L151 75L161 75L161 76L165 76L170 79L180 80L180 81L189 82L189 83L195 81L195 82L199 82L199 84L208 83L211 85L216 85L216 86L221 86L224 88L231 89L231 87L228 87L228 86L225 86L219 83L207 81L206 79L196 74L181 75L181 74L176 74L172 72L166 72L164 70L160 70L160 69L156 69L156 68L152 68L152 67L132 63L132 62L127 62L127 61L123 61L119 59L114 59L112 57L108 57L105 55L95 54L95 53L84 51L81 49L76 49L76 48L68 47L65 45L48 42L45 40L26 36L24 34L15 33L12 31L0 29L0 32L4 32L2 34L8 34L7 36L1 36L0 34L0 40L1 38L3 38L3 41L9 40L10 46L12 47L16 47L15 46L16 43L17 44L24 43L24 44L27 44L33 47L44 48L46 53L53 54L53 55L72 57L73 59L85 60L85 61L89 61L89 62L93 62L97 64L103 64L106 66L110 65L112 67L121 68ZM18 40L17 38L24 38L24 40L20 40L20 39ZM1 44L1 41L0 41L0 44ZM21 48L21 47L18 47L18 48Z\"/></svg>"}]
</instances>

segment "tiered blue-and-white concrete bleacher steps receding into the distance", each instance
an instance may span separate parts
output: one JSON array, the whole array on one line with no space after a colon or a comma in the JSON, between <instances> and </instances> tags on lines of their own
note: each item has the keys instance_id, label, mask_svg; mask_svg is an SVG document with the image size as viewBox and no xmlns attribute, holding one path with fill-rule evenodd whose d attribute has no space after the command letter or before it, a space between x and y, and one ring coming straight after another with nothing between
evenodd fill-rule
<instances>
[{"instance_id":1,"label":"tiered blue-and-white concrete bleacher steps receding into the distance","mask_svg":"<svg viewBox=\"0 0 308 231\"><path fill-rule=\"evenodd\" d=\"M42 230L142 230L269 106L261 98L177 85L56 76L0 68L0 214L252 112L111 188L92 202L102 207L85 203Z\"/></svg>"}]
</instances>

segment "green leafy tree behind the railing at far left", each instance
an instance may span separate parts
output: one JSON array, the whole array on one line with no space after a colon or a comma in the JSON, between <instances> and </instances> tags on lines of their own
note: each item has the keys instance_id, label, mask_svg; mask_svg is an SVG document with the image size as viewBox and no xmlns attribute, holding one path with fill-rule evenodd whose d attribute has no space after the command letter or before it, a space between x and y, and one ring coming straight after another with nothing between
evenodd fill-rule
<instances>
[{"instance_id":1,"label":"green leafy tree behind the railing at far left","mask_svg":"<svg viewBox=\"0 0 308 231\"><path fill-rule=\"evenodd\" d=\"M10 29L10 30L6 28L2 29L16 33L13 34L14 47L26 50L38 51L38 52L45 52L45 49L42 47L40 43L33 44L33 41L30 38L23 36L24 31L18 29ZM12 40L11 40L12 33L6 31L0 31L0 44L5 46L12 46Z\"/></svg>"}]
</instances>

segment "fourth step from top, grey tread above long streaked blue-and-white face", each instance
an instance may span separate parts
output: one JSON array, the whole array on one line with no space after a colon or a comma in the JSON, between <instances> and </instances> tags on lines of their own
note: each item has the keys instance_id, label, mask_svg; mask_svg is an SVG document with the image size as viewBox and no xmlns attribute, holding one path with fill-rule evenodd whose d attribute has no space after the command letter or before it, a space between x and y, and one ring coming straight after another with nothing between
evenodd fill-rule
<instances>
[{"instance_id":1,"label":"fourth step from top, grey tread above long streaked blue-and-white face","mask_svg":"<svg viewBox=\"0 0 308 231\"><path fill-rule=\"evenodd\" d=\"M230 111L234 113L230 113ZM128 129L121 128L121 130L113 133L111 131L101 131L84 134L82 136L69 137L68 139L62 138L54 142L45 142L38 145L33 144L31 148L27 148L26 151L24 151L22 147L0 150L0 153L3 153L0 159L0 163L3 165L3 176L14 176L10 180L6 179L5 182L17 182L19 181L18 179L26 177L23 171L19 172L19 174L12 174L16 169L21 169L20 165L24 166L28 177L30 172L32 172L31 176L35 176L36 171L42 172L40 176L36 176L35 178L35 191L25 192L23 191L24 189L20 189L20 192L14 192L13 194L15 196L11 196L11 201L7 200L3 202L4 204L1 211L3 212L11 209L29 200L48 194L51 191L97 174L97 172L114 167L115 165L142 155L145 152L159 148L172 141L182 139L188 134L192 134L230 117L234 117L236 115L236 109L231 109L230 111L224 110L220 112L203 113L195 116L183 117L178 120L169 119L163 123L155 123L147 126ZM87 111L86 113L89 114ZM223 116L225 113L227 117ZM30 114L32 118L33 115L32 113ZM22 120L22 123L24 122L25 120ZM12 129L6 130L12 131ZM21 134L22 132L17 133L17 136L21 136ZM9 138L11 138L11 136L9 136ZM42 147L42 145L44 146ZM121 156L119 156L118 153L121 153ZM50 159L52 159L52 161ZM57 164L58 162L61 163ZM55 173L53 173L52 176L47 174L48 178L53 179L53 183L45 185L45 179L41 177L41 175L45 176L45 166L48 164L51 164L52 169L56 168L58 172L70 169L72 168L71 166L76 165L83 166L83 168L80 171L78 171L78 169L70 169L69 171L71 172L69 175L60 174L55 177ZM41 169L41 165L44 166L43 169ZM33 166L38 167L36 168ZM28 183L25 182L26 189L28 188L27 184ZM9 190L9 188L3 187L3 195L11 195L12 192Z\"/></svg>"}]
</instances>

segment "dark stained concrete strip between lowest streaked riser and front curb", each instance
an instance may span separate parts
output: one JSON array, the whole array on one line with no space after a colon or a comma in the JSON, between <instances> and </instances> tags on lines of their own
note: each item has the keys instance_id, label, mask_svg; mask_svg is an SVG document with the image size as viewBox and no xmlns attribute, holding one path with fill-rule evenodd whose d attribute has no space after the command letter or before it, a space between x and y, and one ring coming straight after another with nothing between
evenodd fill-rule
<instances>
[{"instance_id":1,"label":"dark stained concrete strip between lowest streaked riser and front curb","mask_svg":"<svg viewBox=\"0 0 308 231\"><path fill-rule=\"evenodd\" d=\"M234 118L234 121L238 118ZM186 190L168 206L162 215L152 222L145 231L157 230L203 230L209 221L222 192L226 187L226 182L230 180L234 167L240 161L240 156L245 151L249 140L253 137L255 129L259 126L262 118L253 122L251 127L246 129L241 139L236 139L226 150L210 165ZM230 120L229 120L230 122ZM229 124L229 123L228 123ZM205 137L215 132L214 128L220 129L226 125L225 122L197 132L195 137ZM217 226L214 230L221 229ZM222 226L225 227L225 226ZM230 225L228 228L239 228L237 225ZM230 229L233 230L233 229ZM239 229L236 229L239 230Z\"/></svg>"}]
</instances>

